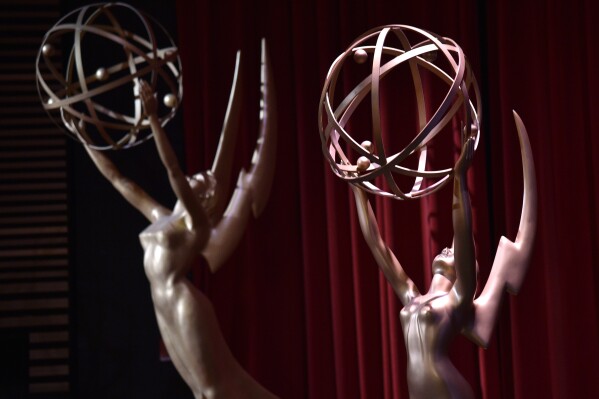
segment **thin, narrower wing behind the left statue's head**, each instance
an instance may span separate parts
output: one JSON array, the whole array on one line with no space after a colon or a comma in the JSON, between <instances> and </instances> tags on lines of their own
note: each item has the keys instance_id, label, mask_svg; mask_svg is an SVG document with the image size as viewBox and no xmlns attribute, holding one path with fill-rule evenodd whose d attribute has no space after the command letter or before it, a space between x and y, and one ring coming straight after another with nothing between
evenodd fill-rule
<instances>
[{"instance_id":1,"label":"thin, narrower wing behind the left statue's head","mask_svg":"<svg viewBox=\"0 0 599 399\"><path fill-rule=\"evenodd\" d=\"M216 156L212 163L212 174L216 178L215 204L214 212L211 215L212 220L220 220L227 206L226 194L229 192L231 182L231 169L233 167L233 157L235 156L235 141L239 131L239 120L241 117L242 103L242 83L241 83L241 52L237 52L235 60L235 72L233 74L233 84L231 85L231 94L229 95L229 104L223 122L223 128L216 150Z\"/></svg>"}]
</instances>

